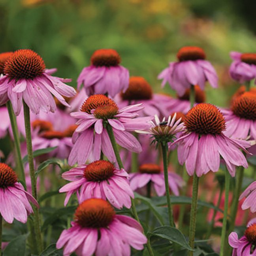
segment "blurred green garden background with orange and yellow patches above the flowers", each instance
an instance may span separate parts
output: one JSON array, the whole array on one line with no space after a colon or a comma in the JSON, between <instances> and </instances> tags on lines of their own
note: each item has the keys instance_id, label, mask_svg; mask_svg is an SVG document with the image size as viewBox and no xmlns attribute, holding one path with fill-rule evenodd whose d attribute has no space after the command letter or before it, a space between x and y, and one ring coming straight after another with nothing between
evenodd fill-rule
<instances>
[{"instance_id":1,"label":"blurred green garden background with orange and yellow patches above the flowers","mask_svg":"<svg viewBox=\"0 0 256 256\"><path fill-rule=\"evenodd\" d=\"M229 52L255 52L255 9L251 0L0 0L0 52L33 49L76 87L92 53L113 48L130 75L161 92L157 75L180 47L197 45L220 77L220 89L206 88L208 102L225 106L239 87Z\"/></svg>"}]
</instances>

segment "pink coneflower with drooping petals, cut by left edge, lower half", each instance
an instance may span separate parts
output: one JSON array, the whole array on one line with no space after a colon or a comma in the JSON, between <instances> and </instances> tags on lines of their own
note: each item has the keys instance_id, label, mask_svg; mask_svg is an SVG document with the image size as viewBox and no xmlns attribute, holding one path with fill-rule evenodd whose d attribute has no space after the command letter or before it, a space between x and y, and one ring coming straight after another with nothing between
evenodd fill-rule
<instances>
[{"instance_id":1,"label":"pink coneflower with drooping petals, cut by left edge, lower half","mask_svg":"<svg viewBox=\"0 0 256 256\"><path fill-rule=\"evenodd\" d=\"M0 163L0 213L4 220L12 223L15 218L26 223L28 215L33 213L29 201L39 207L37 201L18 182L13 169Z\"/></svg>"}]
</instances>

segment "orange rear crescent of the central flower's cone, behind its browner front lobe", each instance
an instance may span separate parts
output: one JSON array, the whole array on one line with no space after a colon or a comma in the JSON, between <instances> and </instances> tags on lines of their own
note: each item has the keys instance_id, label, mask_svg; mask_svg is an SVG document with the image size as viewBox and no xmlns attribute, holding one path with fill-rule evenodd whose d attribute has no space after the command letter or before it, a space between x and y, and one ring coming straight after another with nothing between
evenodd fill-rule
<instances>
[{"instance_id":1,"label":"orange rear crescent of the central flower's cone, behind its browner front lobe","mask_svg":"<svg viewBox=\"0 0 256 256\"><path fill-rule=\"evenodd\" d=\"M103 94L96 94L87 98L87 100L85 100L85 102L81 106L80 110L85 113L91 114L92 109L96 109L97 107L104 105L112 105L117 107L117 104L113 100L109 99L107 96Z\"/></svg>"}]
</instances>

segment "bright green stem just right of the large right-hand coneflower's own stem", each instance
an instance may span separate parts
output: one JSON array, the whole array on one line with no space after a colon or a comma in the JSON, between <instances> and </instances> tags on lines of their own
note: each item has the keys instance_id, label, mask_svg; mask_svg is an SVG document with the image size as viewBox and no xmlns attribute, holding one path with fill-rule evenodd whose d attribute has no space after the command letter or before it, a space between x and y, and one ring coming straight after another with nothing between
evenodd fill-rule
<instances>
[{"instance_id":1,"label":"bright green stem just right of the large right-hand coneflower's own stem","mask_svg":"<svg viewBox=\"0 0 256 256\"><path fill-rule=\"evenodd\" d=\"M224 247L225 247L225 241L226 241L229 188L230 188L230 174L229 174L228 170L226 169L226 172L225 172L225 204L224 204L224 217L223 217L222 230L221 230L220 256L224 256Z\"/></svg>"}]
</instances>

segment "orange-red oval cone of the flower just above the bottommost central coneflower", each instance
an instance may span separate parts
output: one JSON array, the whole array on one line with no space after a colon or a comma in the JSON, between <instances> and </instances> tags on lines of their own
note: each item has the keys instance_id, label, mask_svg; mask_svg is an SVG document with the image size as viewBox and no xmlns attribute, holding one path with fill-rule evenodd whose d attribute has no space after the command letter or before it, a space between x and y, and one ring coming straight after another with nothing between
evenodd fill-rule
<instances>
[{"instance_id":1,"label":"orange-red oval cone of the flower just above the bottommost central coneflower","mask_svg":"<svg viewBox=\"0 0 256 256\"><path fill-rule=\"evenodd\" d=\"M84 177L87 181L105 181L113 176L115 166L106 160L92 162L84 169Z\"/></svg>"}]
</instances>

